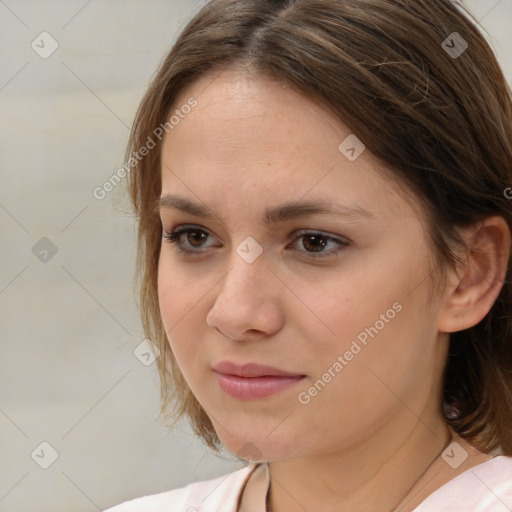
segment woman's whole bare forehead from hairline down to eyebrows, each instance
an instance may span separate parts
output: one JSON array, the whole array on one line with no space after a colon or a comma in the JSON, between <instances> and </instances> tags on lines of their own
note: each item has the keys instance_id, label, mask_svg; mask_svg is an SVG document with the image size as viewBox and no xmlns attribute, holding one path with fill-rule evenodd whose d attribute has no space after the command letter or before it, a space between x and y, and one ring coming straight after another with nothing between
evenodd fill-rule
<instances>
[{"instance_id":1,"label":"woman's whole bare forehead from hairline down to eyebrows","mask_svg":"<svg viewBox=\"0 0 512 512\"><path fill-rule=\"evenodd\" d=\"M377 159L363 151L349 160L340 144L354 137L350 129L291 87L227 70L182 91L170 114L191 99L197 105L164 139L163 193L215 206L227 197L259 205L343 199L377 214L396 205Z\"/></svg>"}]
</instances>

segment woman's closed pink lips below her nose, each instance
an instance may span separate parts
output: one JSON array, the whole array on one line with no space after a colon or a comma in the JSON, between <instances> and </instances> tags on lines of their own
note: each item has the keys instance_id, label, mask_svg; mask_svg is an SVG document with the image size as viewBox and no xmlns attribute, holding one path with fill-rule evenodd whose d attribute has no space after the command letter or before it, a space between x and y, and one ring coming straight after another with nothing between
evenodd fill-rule
<instances>
[{"instance_id":1,"label":"woman's closed pink lips below her nose","mask_svg":"<svg viewBox=\"0 0 512 512\"><path fill-rule=\"evenodd\" d=\"M305 375L260 364L237 365L229 361L213 368L221 389L239 400L258 400L293 386Z\"/></svg>"}]
</instances>

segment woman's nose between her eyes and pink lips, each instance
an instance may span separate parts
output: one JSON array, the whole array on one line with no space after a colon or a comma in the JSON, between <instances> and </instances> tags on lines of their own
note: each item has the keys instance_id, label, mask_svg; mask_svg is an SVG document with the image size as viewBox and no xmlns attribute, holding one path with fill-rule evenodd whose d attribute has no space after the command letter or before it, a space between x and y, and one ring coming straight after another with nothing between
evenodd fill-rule
<instances>
[{"instance_id":1,"label":"woman's nose between her eyes and pink lips","mask_svg":"<svg viewBox=\"0 0 512 512\"><path fill-rule=\"evenodd\" d=\"M283 284L263 257L247 263L234 254L227 274L217 286L219 291L206 323L226 338L265 338L282 328Z\"/></svg>"}]
</instances>

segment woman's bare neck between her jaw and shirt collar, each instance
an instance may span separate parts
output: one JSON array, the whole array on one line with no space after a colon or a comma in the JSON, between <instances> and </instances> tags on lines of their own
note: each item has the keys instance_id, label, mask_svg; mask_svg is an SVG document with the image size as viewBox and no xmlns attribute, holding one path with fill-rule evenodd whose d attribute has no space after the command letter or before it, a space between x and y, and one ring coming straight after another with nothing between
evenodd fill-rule
<instances>
[{"instance_id":1,"label":"woman's bare neck between her jaw and shirt collar","mask_svg":"<svg viewBox=\"0 0 512 512\"><path fill-rule=\"evenodd\" d=\"M446 465L440 455L451 431L440 415L427 426L407 413L408 423L396 418L337 451L270 462L271 510L413 510L408 508L414 503L411 493L439 472L439 461Z\"/></svg>"}]
</instances>

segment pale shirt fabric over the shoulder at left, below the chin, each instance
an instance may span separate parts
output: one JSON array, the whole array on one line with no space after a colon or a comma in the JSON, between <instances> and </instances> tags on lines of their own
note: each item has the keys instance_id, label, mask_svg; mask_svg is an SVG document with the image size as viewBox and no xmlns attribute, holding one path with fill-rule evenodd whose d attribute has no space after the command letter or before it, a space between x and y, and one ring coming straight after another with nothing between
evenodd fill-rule
<instances>
[{"instance_id":1,"label":"pale shirt fabric over the shoulder at left, below the chin","mask_svg":"<svg viewBox=\"0 0 512 512\"><path fill-rule=\"evenodd\" d=\"M253 467L250 464L212 480L125 501L104 512L234 512L240 489Z\"/></svg>"}]
</instances>

